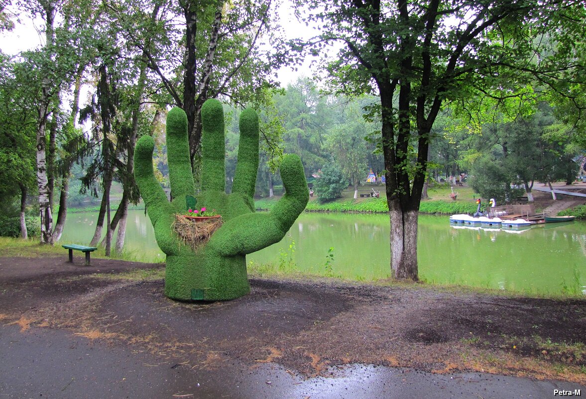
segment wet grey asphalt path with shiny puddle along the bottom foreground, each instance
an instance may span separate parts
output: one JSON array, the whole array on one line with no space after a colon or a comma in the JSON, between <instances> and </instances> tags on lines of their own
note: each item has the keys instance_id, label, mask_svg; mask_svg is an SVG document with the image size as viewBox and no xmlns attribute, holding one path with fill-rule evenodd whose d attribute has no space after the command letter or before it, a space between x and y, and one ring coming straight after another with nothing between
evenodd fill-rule
<instances>
[{"instance_id":1,"label":"wet grey asphalt path with shiny puddle along the bottom foreground","mask_svg":"<svg viewBox=\"0 0 586 399\"><path fill-rule=\"evenodd\" d=\"M302 378L278 364L216 370L108 345L66 330L0 326L0 399L553 398L586 387L484 373L431 374L355 364ZM559 393L559 392L558 392ZM566 395L567 396L567 395Z\"/></svg>"}]
</instances>

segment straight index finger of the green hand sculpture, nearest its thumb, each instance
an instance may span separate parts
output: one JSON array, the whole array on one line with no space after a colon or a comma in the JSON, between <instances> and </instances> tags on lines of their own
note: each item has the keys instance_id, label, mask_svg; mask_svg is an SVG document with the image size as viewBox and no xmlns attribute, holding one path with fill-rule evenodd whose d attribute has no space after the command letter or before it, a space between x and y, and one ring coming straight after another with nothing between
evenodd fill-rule
<instances>
[{"instance_id":1,"label":"straight index finger of the green hand sculpture, nearest its thumb","mask_svg":"<svg viewBox=\"0 0 586 399\"><path fill-rule=\"evenodd\" d=\"M240 114L240 144L233 193L252 198L258 172L258 115L247 109Z\"/></svg>"}]
</instances>

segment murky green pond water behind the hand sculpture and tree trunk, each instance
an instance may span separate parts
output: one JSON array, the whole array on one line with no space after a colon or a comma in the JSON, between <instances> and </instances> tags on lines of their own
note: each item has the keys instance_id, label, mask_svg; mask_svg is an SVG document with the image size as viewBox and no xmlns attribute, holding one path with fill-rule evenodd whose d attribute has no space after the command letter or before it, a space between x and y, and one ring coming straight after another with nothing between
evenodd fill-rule
<instances>
[{"instance_id":1,"label":"murky green pond water behind the hand sculpture and tree trunk","mask_svg":"<svg viewBox=\"0 0 586 399\"><path fill-rule=\"evenodd\" d=\"M88 244L97 213L70 213L62 241ZM421 215L418 261L427 281L540 294L586 294L586 223L541 224L526 230L454 227L448 216ZM280 243L247 261L289 260L300 271L372 280L390 275L386 214L302 213ZM289 247L294 244L294 251ZM144 211L131 210L125 250L139 260L164 259Z\"/></svg>"}]
</instances>

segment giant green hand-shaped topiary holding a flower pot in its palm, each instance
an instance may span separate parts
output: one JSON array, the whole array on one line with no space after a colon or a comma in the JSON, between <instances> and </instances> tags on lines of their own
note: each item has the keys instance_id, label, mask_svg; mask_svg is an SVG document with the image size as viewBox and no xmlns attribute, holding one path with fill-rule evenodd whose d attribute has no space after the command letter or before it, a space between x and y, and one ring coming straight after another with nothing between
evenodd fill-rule
<instances>
[{"instance_id":1,"label":"giant green hand-shaped topiary holding a flower pot in its palm","mask_svg":"<svg viewBox=\"0 0 586 399\"><path fill-rule=\"evenodd\" d=\"M167 116L167 154L173 200L155 179L153 139L139 139L134 155L135 179L147 204L156 242L166 257L165 295L172 299L233 299L250 292L246 254L277 243L305 209L309 199L304 169L297 155L281 163L286 193L270 213L254 213L258 169L258 116L244 110L240 116L240 148L232 193L224 192L224 114L222 104L207 100L202 108L202 193L198 206L215 209L224 224L209 242L193 250L172 231L175 214L185 213L186 196L195 194L189 159L187 117L180 108Z\"/></svg>"}]
</instances>

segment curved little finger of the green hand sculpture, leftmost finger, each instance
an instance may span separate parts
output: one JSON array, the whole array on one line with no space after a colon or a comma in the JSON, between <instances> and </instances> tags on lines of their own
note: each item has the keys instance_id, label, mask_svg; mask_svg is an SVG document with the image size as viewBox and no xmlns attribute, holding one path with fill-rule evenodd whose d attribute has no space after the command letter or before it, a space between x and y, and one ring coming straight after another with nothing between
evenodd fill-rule
<instances>
[{"instance_id":1,"label":"curved little finger of the green hand sculpture, leftmost finger","mask_svg":"<svg viewBox=\"0 0 586 399\"><path fill-rule=\"evenodd\" d=\"M158 180L155 178L152 166L152 151L155 148L155 142L150 136L141 137L134 151L134 178L137 180L137 186L140 190L141 197L147 204L147 208L158 209L163 213L169 213L169 202ZM149 212L152 224L160 216L159 212Z\"/></svg>"}]
</instances>

